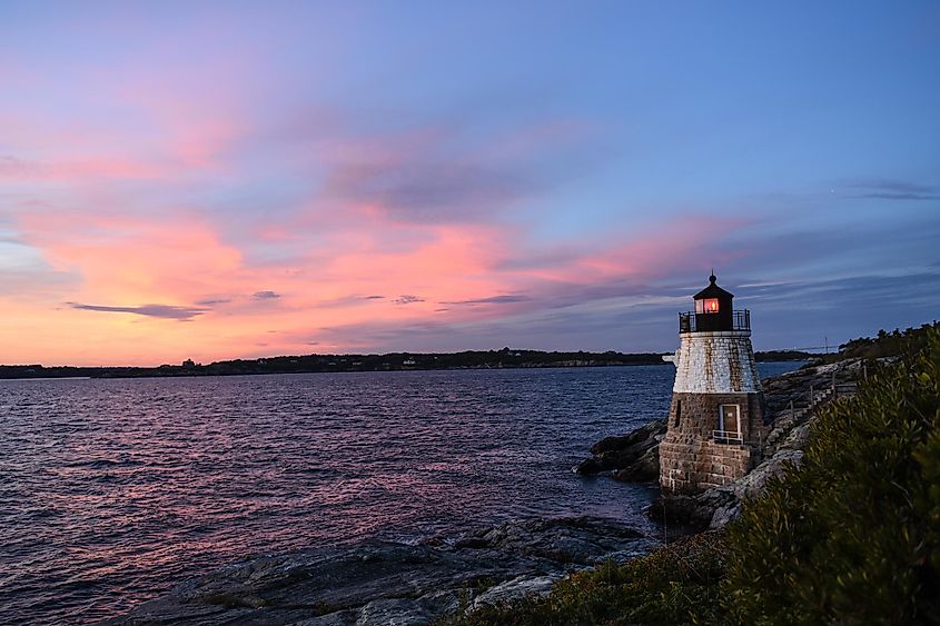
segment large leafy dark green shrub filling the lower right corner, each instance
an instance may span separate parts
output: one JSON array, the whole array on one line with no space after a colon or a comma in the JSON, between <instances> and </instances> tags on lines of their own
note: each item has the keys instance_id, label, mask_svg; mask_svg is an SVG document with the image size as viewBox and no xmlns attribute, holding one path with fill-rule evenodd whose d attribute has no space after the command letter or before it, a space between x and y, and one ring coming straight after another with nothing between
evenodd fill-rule
<instances>
[{"instance_id":1,"label":"large leafy dark green shrub filling the lower right corner","mask_svg":"<svg viewBox=\"0 0 940 626\"><path fill-rule=\"evenodd\" d=\"M940 622L940 332L823 409L802 466L729 528L726 618Z\"/></svg>"}]
</instances>

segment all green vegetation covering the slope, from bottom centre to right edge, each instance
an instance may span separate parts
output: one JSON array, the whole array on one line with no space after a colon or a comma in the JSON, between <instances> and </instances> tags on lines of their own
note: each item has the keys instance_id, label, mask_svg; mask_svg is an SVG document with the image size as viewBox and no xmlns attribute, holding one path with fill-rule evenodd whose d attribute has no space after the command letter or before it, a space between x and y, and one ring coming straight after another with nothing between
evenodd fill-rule
<instances>
[{"instance_id":1,"label":"all green vegetation covering the slope, from bottom centre to right edge","mask_svg":"<svg viewBox=\"0 0 940 626\"><path fill-rule=\"evenodd\" d=\"M725 533L446 623L940 624L940 328L909 335Z\"/></svg>"}]
</instances>

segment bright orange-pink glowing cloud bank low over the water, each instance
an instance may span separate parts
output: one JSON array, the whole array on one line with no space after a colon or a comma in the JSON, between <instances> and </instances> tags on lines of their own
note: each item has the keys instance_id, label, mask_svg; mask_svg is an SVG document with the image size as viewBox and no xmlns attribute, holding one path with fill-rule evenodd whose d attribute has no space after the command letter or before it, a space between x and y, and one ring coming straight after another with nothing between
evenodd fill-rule
<instances>
[{"instance_id":1,"label":"bright orange-pink glowing cloud bank low over the water","mask_svg":"<svg viewBox=\"0 0 940 626\"><path fill-rule=\"evenodd\" d=\"M297 351L320 327L365 321L377 310L385 319L417 319L442 300L502 287L491 270L503 237L492 227L379 221L375 229L333 233L308 256L256 267L192 211L162 219L34 212L21 216L20 227L52 268L81 277L40 317L58 326L68 318L66 326L78 325L85 336L107 337L106 362ZM400 230L419 230L418 242L388 249L388 237ZM355 292L388 297L320 306ZM416 298L403 304L407 295ZM151 356L127 348L144 337ZM31 354L51 355L62 346L58 338L33 341ZM90 362L87 354L76 357Z\"/></svg>"}]
</instances>

